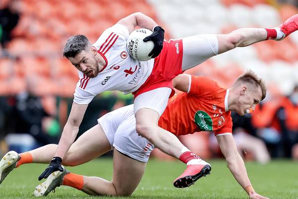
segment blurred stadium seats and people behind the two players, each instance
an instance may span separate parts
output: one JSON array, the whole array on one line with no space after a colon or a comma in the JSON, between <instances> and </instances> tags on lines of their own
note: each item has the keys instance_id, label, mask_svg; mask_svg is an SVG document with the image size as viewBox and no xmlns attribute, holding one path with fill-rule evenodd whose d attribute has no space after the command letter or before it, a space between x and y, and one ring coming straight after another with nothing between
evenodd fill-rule
<instances>
[{"instance_id":1,"label":"blurred stadium seats and people behind the two players","mask_svg":"<svg viewBox=\"0 0 298 199\"><path fill-rule=\"evenodd\" d=\"M71 35L85 34L93 43L107 27L136 11L162 25L166 39L271 28L297 14L297 5L296 0L1 0L0 152L58 142L78 81L76 69L62 56ZM247 69L265 79L268 93L252 114L232 114L240 154L261 163L298 159L298 33L281 42L234 49L187 73L228 88ZM120 92L98 95L79 135L101 115L132 102L132 95ZM192 151L203 158L222 157L212 133L191 136L181 140ZM158 150L152 155L164 158Z\"/></svg>"}]
</instances>

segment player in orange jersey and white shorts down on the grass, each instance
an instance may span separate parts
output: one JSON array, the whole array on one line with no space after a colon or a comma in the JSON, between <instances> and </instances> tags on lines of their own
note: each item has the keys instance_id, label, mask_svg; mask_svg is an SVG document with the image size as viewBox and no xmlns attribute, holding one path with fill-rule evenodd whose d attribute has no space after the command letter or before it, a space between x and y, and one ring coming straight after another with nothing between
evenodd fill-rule
<instances>
[{"instance_id":1,"label":"player in orange jersey and white shorts down on the grass","mask_svg":"<svg viewBox=\"0 0 298 199\"><path fill-rule=\"evenodd\" d=\"M160 117L159 126L170 130L175 135L201 130L214 131L228 168L249 198L268 199L257 194L252 188L244 162L238 154L231 134L230 117L230 111L243 115L247 109L254 109L255 105L265 98L266 88L262 79L248 71L240 76L230 89L224 89L209 78L183 74L176 77L173 84L175 88L187 93L179 92L169 100L164 114ZM98 119L96 126L74 142L62 162L66 166L75 166L114 149L114 172L111 182L97 177L69 173L64 169L63 172L57 171L55 175L51 175L47 181L39 185L34 193L35 196L48 195L60 185L71 186L92 195L131 195L142 179L146 162L154 148L148 139L138 135L135 124L133 105L105 114ZM51 160L56 148L57 145L47 145L22 154L11 151L4 156L5 160L2 159L0 164L5 165L6 168L7 161L11 161L16 167L32 162L46 163ZM181 188L179 186L181 183L177 184L181 179L183 179L182 184L185 183L187 186L209 174L210 164L199 157L196 161L195 167L192 165L192 160L189 161L188 169L174 181L175 187ZM200 170L197 170L198 162L201 165ZM12 167L8 166L3 170L1 181L13 169Z\"/></svg>"}]
</instances>

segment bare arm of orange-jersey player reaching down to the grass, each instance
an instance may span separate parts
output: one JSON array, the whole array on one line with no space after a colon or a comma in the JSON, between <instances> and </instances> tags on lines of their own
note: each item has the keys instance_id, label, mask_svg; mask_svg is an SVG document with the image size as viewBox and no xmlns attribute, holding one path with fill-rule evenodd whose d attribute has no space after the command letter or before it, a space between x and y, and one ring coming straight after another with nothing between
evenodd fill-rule
<instances>
[{"instance_id":1,"label":"bare arm of orange-jersey player reaching down to the grass","mask_svg":"<svg viewBox=\"0 0 298 199\"><path fill-rule=\"evenodd\" d=\"M267 197L263 197L254 191L248 179L243 159L237 151L236 143L232 134L218 135L216 138L224 154L229 170L236 181L248 194L249 199L268 199Z\"/></svg>"}]
</instances>

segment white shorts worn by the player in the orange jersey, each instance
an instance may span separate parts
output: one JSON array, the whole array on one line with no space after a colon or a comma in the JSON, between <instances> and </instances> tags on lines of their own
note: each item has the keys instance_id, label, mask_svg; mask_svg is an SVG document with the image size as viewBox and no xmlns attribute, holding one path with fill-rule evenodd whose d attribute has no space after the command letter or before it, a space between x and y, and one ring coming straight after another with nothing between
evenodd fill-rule
<instances>
[{"instance_id":1,"label":"white shorts worn by the player in the orange jersey","mask_svg":"<svg viewBox=\"0 0 298 199\"><path fill-rule=\"evenodd\" d=\"M139 136L136 131L134 105L128 105L109 112L98 120L113 147L141 162L148 162L154 146L145 137Z\"/></svg>"}]
</instances>

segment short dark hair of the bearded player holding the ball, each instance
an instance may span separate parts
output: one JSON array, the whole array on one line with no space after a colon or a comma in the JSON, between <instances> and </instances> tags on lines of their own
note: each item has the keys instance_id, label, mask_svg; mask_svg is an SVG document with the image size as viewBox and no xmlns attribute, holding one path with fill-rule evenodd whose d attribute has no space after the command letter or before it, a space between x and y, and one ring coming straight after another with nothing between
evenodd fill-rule
<instances>
[{"instance_id":1,"label":"short dark hair of the bearded player holding the ball","mask_svg":"<svg viewBox=\"0 0 298 199\"><path fill-rule=\"evenodd\" d=\"M63 49L63 56L66 58L75 57L89 45L91 44L85 35L74 35L67 40Z\"/></svg>"}]
</instances>

